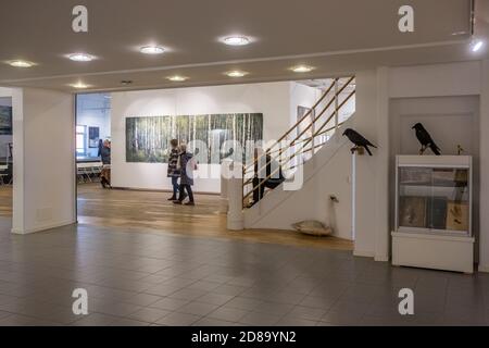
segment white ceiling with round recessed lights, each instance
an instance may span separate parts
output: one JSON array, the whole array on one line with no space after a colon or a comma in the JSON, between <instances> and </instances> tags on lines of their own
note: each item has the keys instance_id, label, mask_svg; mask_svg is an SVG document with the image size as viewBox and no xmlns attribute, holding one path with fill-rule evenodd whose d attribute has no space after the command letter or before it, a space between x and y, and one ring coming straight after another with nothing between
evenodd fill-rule
<instances>
[{"instance_id":1,"label":"white ceiling with round recessed lights","mask_svg":"<svg viewBox=\"0 0 489 348\"><path fill-rule=\"evenodd\" d=\"M0 85L90 90L300 79L333 76L378 65L406 65L480 59L467 49L469 0L1 0ZM487 33L488 0L478 0L477 25ZM72 8L89 10L89 33L71 29ZM398 9L415 10L415 32L398 30ZM479 14L480 13L480 14ZM466 35L453 36L452 33ZM227 47L223 36L253 42ZM167 52L148 57L140 46ZM89 63L66 54L85 51ZM485 52L487 53L487 52ZM23 59L32 69L5 62ZM312 73L289 69L315 66ZM224 72L250 74L231 79ZM190 77L171 83L173 74ZM130 86L121 80L130 79Z\"/></svg>"}]
</instances>

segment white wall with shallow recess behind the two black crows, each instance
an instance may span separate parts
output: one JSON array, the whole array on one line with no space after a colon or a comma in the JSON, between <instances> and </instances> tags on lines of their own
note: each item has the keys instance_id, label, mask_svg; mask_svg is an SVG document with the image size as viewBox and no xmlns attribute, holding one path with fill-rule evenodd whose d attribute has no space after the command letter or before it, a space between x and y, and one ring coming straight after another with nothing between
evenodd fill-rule
<instances>
[{"instance_id":1,"label":"white wall with shallow recess behind the two black crows","mask_svg":"<svg viewBox=\"0 0 489 348\"><path fill-rule=\"evenodd\" d=\"M487 62L484 63L487 66ZM374 256L377 260L388 260L390 253L389 211L392 187L392 161L398 152L413 152L416 142L405 132L408 123L423 119L434 136L439 139L446 153L456 151L455 142L463 142L475 157L475 169L480 162L476 176L480 177L480 211L487 211L485 198L489 170L487 165L487 144L478 139L477 128L488 134L488 78L481 78L481 62L435 64L424 66L380 67L375 72L359 73L356 87L355 127L379 146L374 151L376 159L358 158L356 172L356 243L355 253ZM487 67L486 67L487 69ZM487 76L487 71L485 72ZM363 78L361 77L363 76ZM481 87L484 83L485 87ZM484 89L486 88L486 89ZM482 94L481 94L482 90ZM461 97L466 97L461 99ZM413 98L417 98L414 100ZM404 100L401 111L392 100ZM462 100L462 101L461 101ZM480 112L477 103L480 102ZM396 109L398 108L398 109ZM403 120L396 113L403 113ZM441 119L430 119L438 113ZM398 117L399 123L393 123ZM408 120L410 119L411 120ZM419 119L419 120L421 120ZM400 128L402 127L402 132ZM465 139L468 137L468 140ZM414 142L413 142L414 141ZM477 158L480 153L480 161ZM486 158L485 158L486 156ZM486 173L486 175L485 175ZM386 183L389 183L386 184ZM476 183L477 184L477 183ZM476 201L477 204L477 201ZM476 214L477 216L477 214ZM480 260L487 266L489 223L480 216ZM488 268L489 270L489 268Z\"/></svg>"}]
</instances>

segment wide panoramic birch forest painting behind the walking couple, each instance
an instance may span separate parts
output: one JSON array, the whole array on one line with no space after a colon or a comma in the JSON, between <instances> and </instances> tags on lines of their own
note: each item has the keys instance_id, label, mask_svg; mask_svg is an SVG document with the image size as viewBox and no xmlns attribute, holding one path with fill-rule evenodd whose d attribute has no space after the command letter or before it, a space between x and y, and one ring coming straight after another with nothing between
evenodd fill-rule
<instances>
[{"instance_id":1,"label":"wide panoramic birch forest painting behind the walking couple","mask_svg":"<svg viewBox=\"0 0 489 348\"><path fill-rule=\"evenodd\" d=\"M126 117L126 162L167 163L172 139L202 141L208 163L218 164L226 157L225 141L237 140L244 147L247 141L263 139L263 114Z\"/></svg>"}]
</instances>

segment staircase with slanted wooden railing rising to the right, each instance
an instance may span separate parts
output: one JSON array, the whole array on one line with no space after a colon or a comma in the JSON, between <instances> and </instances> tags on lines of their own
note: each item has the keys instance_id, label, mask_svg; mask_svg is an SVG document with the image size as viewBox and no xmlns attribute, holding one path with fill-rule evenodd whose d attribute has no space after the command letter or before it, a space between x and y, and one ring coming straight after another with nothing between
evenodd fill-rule
<instances>
[{"instance_id":1,"label":"staircase with slanted wooden railing rising to the right","mask_svg":"<svg viewBox=\"0 0 489 348\"><path fill-rule=\"evenodd\" d=\"M348 120L354 112L354 76L334 78L308 113L278 140L263 149L262 153L255 153L252 161L243 165L242 196L239 196L242 197L244 228L290 229L290 222L296 219L290 215L304 208L293 207L293 198L314 190L314 177L328 170L335 171L335 166L338 166L338 163L333 163L335 160L341 161L342 166L350 165L350 145L339 130L348 127ZM346 154L342 159L336 159L340 150ZM253 190L258 194L262 186L269 186L266 185L267 181L277 178L280 170L286 181L274 189L265 188L264 196L258 202L253 201ZM259 179L255 178L256 172L260 173ZM293 211L289 214L290 204ZM271 214L277 215L278 220L265 219ZM294 215L304 216L308 212Z\"/></svg>"}]
</instances>

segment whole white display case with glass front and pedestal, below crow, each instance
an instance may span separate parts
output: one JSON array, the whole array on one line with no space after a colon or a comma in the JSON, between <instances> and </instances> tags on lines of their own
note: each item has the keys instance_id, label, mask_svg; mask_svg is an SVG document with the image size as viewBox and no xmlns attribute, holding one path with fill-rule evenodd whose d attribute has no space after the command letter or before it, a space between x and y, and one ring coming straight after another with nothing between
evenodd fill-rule
<instances>
[{"instance_id":1,"label":"whole white display case with glass front and pedestal, below crow","mask_svg":"<svg viewBox=\"0 0 489 348\"><path fill-rule=\"evenodd\" d=\"M392 261L473 272L472 157L398 156Z\"/></svg>"}]
</instances>

